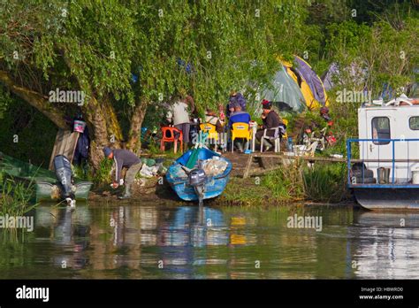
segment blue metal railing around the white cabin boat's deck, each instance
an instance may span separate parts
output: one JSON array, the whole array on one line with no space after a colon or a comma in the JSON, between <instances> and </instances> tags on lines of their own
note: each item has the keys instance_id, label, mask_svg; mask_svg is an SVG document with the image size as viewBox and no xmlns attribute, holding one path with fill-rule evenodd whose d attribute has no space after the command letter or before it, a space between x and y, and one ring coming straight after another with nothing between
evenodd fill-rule
<instances>
[{"instance_id":1,"label":"blue metal railing around the white cabin boat's deck","mask_svg":"<svg viewBox=\"0 0 419 308\"><path fill-rule=\"evenodd\" d=\"M361 142L375 142L377 143L378 146L378 158L367 158L365 159L363 157L363 153L360 152L360 158L352 158L352 143L354 142L358 142L359 144L361 144ZM384 158L381 159L380 158L380 144L385 144L385 143L392 143L392 158ZM395 158L395 151L396 151L396 142L407 142L408 144L408 158L405 159L396 159ZM384 138L377 138L377 139L347 139L347 187L348 188L362 188L362 187L368 187L368 188L418 188L419 185L418 184L409 184L409 183L396 183L395 182L395 170L396 170L396 163L419 163L419 159L418 158L410 158L410 148L409 148L409 142L417 142L415 143L415 146L418 148L415 148L415 156L417 157L417 153L419 152L419 139L384 139ZM386 183L386 184L380 184L379 183L379 179L377 179L377 183L373 183L373 184L364 184L364 173L365 173L365 169L362 167L362 183L356 183L353 182L351 179L351 168L352 168L352 164L353 163L377 163L378 167L380 163L392 163L392 182L391 183ZM407 173L409 173L409 168L407 168ZM409 174L408 177L409 178Z\"/></svg>"}]
</instances>

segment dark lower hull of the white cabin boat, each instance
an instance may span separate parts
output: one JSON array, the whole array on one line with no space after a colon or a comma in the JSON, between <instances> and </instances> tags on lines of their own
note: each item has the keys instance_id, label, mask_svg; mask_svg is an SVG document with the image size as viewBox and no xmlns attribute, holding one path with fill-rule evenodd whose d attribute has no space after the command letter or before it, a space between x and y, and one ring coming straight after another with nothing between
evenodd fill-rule
<instances>
[{"instance_id":1,"label":"dark lower hull of the white cabin boat","mask_svg":"<svg viewBox=\"0 0 419 308\"><path fill-rule=\"evenodd\" d=\"M419 189L354 189L354 196L369 210L419 210Z\"/></svg>"}]
</instances>

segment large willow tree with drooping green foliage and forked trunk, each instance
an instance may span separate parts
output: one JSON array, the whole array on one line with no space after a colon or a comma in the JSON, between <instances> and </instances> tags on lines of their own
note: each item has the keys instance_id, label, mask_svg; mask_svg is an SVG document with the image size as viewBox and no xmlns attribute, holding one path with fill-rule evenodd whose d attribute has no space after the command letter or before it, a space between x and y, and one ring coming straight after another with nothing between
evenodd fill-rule
<instances>
[{"instance_id":1,"label":"large willow tree with drooping green foliage and forked trunk","mask_svg":"<svg viewBox=\"0 0 419 308\"><path fill-rule=\"evenodd\" d=\"M301 25L307 5L304 0L3 1L0 82L57 127L65 128L65 116L82 112L97 165L100 148L110 141L118 147L126 140L138 150L149 104L162 104L179 89L202 109L225 102L231 89L269 81L278 54L295 52L306 41ZM55 89L83 91L84 104L51 103Z\"/></svg>"}]
</instances>

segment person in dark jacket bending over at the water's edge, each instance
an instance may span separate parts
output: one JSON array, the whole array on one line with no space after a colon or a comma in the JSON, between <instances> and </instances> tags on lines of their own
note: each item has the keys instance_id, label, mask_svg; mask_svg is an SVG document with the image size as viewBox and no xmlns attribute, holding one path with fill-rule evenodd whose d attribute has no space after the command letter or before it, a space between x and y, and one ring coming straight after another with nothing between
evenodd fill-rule
<instances>
[{"instance_id":1,"label":"person in dark jacket bending over at the water's edge","mask_svg":"<svg viewBox=\"0 0 419 308\"><path fill-rule=\"evenodd\" d=\"M103 148L103 154L105 158L113 159L114 160L114 167L115 167L115 178L112 183L112 187L117 189L119 185L125 184L125 192L123 196L119 196L119 199L128 199L131 197L131 186L133 185L133 181L135 180L135 175L141 169L141 159L138 158L132 151L130 150L122 150L122 149L110 149L108 147ZM126 180L121 177L122 168L126 167L128 170L126 171Z\"/></svg>"}]
</instances>

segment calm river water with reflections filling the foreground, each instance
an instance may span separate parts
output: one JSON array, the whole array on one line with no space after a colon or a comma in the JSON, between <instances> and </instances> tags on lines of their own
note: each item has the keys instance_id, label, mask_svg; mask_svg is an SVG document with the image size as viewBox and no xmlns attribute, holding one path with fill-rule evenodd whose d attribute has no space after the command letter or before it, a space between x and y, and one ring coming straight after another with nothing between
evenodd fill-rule
<instances>
[{"instance_id":1,"label":"calm river water with reflections filling the foreground","mask_svg":"<svg viewBox=\"0 0 419 308\"><path fill-rule=\"evenodd\" d=\"M0 230L0 279L419 278L415 212L205 206L200 215L158 201L44 204L30 215L32 232ZM291 225L301 217L321 225Z\"/></svg>"}]
</instances>

